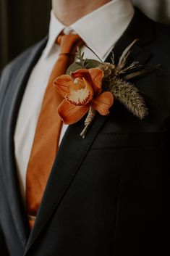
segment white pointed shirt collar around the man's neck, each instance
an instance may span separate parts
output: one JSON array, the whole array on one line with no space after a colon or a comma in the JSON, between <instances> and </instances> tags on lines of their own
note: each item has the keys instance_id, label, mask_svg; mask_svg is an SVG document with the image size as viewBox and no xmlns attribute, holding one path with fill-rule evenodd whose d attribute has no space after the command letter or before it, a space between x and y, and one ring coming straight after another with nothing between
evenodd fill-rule
<instances>
[{"instance_id":1,"label":"white pointed shirt collar around the man's neck","mask_svg":"<svg viewBox=\"0 0 170 256\"><path fill-rule=\"evenodd\" d=\"M112 0L69 26L95 54L104 59L122 36L134 15L130 0ZM44 54L48 55L63 25L51 11L49 39Z\"/></svg>"}]
</instances>

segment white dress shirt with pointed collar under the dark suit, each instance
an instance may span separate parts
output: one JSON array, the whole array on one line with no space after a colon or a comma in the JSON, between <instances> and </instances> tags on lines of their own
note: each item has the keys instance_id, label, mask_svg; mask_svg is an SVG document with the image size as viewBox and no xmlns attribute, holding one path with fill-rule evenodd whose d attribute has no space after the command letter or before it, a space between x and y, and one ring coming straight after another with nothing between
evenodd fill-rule
<instances>
[{"instance_id":1,"label":"white dress shirt with pointed collar under the dark suit","mask_svg":"<svg viewBox=\"0 0 170 256\"><path fill-rule=\"evenodd\" d=\"M77 33L85 41L85 44L104 61L116 41L126 30L133 15L134 8L129 0L112 0L66 28L56 19L54 12L51 11L48 43L30 74L14 133L15 157L24 201L27 164L35 128L48 78L54 62L59 56L59 46L55 44L57 36L62 30L64 30L64 33L70 33L70 30L75 31L74 33ZM97 59L93 52L85 48L85 46L82 51L84 51L85 57ZM63 125L60 142L66 129L67 125Z\"/></svg>"}]
</instances>

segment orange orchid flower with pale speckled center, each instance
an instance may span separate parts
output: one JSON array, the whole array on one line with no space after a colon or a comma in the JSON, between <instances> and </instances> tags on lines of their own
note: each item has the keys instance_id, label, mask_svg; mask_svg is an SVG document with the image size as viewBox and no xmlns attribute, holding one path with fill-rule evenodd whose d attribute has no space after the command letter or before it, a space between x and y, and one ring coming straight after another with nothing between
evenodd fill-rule
<instances>
[{"instance_id":1,"label":"orange orchid flower with pale speckled center","mask_svg":"<svg viewBox=\"0 0 170 256\"><path fill-rule=\"evenodd\" d=\"M103 70L91 68L77 70L71 75L61 75L54 80L54 86L64 100L58 112L65 124L79 121L90 109L101 115L108 115L114 103L110 91L102 92Z\"/></svg>"}]
</instances>

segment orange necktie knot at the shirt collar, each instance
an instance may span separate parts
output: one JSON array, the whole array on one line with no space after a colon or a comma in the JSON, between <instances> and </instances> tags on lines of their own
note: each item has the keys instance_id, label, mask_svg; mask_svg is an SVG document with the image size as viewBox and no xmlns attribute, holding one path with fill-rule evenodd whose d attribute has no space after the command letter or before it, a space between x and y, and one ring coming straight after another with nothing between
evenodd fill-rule
<instances>
[{"instance_id":1,"label":"orange necktie knot at the shirt collar","mask_svg":"<svg viewBox=\"0 0 170 256\"><path fill-rule=\"evenodd\" d=\"M82 38L80 38L80 36L77 34L64 35L63 33L61 33L58 38L56 38L56 44L59 44L61 46L60 55L75 55L77 47L82 46L83 41Z\"/></svg>"}]
</instances>

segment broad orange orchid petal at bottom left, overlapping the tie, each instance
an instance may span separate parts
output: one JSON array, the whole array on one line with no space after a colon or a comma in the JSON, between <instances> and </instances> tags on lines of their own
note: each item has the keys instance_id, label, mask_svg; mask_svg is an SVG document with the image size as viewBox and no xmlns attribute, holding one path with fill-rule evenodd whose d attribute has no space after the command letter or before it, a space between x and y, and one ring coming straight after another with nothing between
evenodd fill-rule
<instances>
[{"instance_id":1,"label":"broad orange orchid petal at bottom left, overlapping the tie","mask_svg":"<svg viewBox=\"0 0 170 256\"><path fill-rule=\"evenodd\" d=\"M58 107L59 116L67 125L77 123L89 110L89 105L75 106L64 99Z\"/></svg>"}]
</instances>

